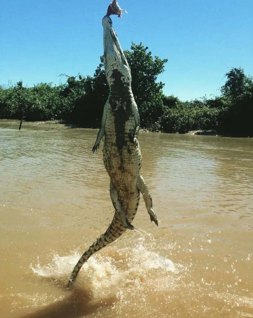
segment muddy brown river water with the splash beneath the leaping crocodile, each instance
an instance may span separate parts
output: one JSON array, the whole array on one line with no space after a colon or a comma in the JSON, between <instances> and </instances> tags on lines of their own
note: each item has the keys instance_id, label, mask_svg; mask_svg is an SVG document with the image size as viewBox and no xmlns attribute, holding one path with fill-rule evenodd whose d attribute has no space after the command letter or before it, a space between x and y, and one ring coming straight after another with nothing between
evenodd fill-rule
<instances>
[{"instance_id":1,"label":"muddy brown river water with the splash beneath the leaping crocodile","mask_svg":"<svg viewBox=\"0 0 253 318\"><path fill-rule=\"evenodd\" d=\"M0 127L0 317L253 317L252 138L141 132L159 226L141 198L68 290L113 218L98 131Z\"/></svg>"}]
</instances>

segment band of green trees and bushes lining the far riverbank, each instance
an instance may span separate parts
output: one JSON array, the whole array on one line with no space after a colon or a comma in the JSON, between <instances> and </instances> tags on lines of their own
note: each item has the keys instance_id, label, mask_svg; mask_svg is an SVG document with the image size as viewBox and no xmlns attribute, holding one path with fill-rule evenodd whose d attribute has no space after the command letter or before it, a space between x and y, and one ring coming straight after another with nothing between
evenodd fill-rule
<instances>
[{"instance_id":1,"label":"band of green trees and bushes lining the far riverbank","mask_svg":"<svg viewBox=\"0 0 253 318\"><path fill-rule=\"evenodd\" d=\"M166 133L215 130L219 135L253 136L253 79L242 68L225 74L220 96L190 101L164 95L157 76L167 59L153 57L148 47L132 43L125 51L132 73L132 90L141 128ZM40 121L59 119L86 128L99 128L109 95L103 57L93 76L67 76L66 83L40 83L25 87L22 81L0 86L0 118ZM182 87L183 89L183 87Z\"/></svg>"}]
</instances>

